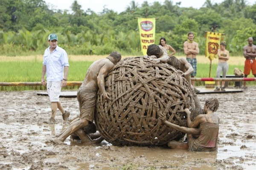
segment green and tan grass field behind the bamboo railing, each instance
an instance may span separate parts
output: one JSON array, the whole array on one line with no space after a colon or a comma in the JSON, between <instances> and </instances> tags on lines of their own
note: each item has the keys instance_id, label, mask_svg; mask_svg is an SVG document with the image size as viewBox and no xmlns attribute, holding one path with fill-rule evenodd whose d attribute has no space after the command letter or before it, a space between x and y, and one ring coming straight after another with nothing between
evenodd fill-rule
<instances>
[{"instance_id":1,"label":"green and tan grass field behind the bamboo railing","mask_svg":"<svg viewBox=\"0 0 256 170\"><path fill-rule=\"evenodd\" d=\"M69 56L69 81L83 81L87 69L97 59L105 58L106 56ZM123 56L125 57L131 56ZM183 56L178 56L180 58ZM198 56L198 70L196 77L209 77L209 59L204 56ZM0 56L0 82L40 82L42 72L43 57L41 55L35 56L19 56L7 57ZM229 70L227 74L232 74L234 68L244 70L244 57L230 57ZM211 77L216 76L218 67L218 59L212 60ZM248 77L253 77L250 74ZM229 85L234 85L234 82L229 82ZM254 82L247 82L247 85L255 85ZM204 86L204 82L195 82L195 86ZM78 89L77 86L67 86L63 90ZM0 86L0 91L24 91L24 90L46 90L44 86Z\"/></svg>"}]
</instances>

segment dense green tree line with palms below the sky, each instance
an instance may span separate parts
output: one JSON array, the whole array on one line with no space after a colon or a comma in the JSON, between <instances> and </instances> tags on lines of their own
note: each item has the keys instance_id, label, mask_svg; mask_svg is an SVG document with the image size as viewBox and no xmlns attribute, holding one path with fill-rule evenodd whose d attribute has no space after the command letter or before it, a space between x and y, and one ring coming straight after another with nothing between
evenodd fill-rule
<instances>
[{"instance_id":1,"label":"dense green tree line with palms below the sky","mask_svg":"<svg viewBox=\"0 0 256 170\"><path fill-rule=\"evenodd\" d=\"M139 6L134 0L126 10L117 13L108 8L95 13L86 11L74 0L68 10L49 8L44 0L0 1L1 55L42 54L47 48L47 37L56 33L58 44L68 54L122 54L141 55L140 35L136 17L155 17L156 37L165 37L167 44L183 53L187 33L193 31L200 54L204 55L205 31L225 34L227 50L231 55L242 55L247 38L256 40L256 4L246 0L224 0L212 3L206 0L200 9L183 8L181 3L166 0L163 4L146 0Z\"/></svg>"}]
</instances>

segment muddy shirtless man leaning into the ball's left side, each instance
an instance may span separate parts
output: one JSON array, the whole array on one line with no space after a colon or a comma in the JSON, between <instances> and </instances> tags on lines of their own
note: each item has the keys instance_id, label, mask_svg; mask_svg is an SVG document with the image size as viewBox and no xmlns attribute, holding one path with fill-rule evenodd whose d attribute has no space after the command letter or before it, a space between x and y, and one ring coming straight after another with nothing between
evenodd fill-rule
<instances>
[{"instance_id":1,"label":"muddy shirtless man leaning into the ball's left side","mask_svg":"<svg viewBox=\"0 0 256 170\"><path fill-rule=\"evenodd\" d=\"M105 90L105 77L114 65L121 60L121 54L114 51L107 58L99 59L93 62L87 70L84 81L77 92L79 102L80 117L75 119L58 138L53 140L55 144L61 144L64 140L85 127L89 122L93 122L94 112L96 108L97 91L103 95L103 102L111 99L110 94Z\"/></svg>"}]
</instances>

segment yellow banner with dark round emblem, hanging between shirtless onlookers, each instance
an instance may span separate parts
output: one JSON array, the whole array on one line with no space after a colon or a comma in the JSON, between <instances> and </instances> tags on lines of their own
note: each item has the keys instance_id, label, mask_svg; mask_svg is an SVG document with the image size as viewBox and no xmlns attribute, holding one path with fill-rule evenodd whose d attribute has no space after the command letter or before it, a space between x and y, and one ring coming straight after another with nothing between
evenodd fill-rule
<instances>
[{"instance_id":1,"label":"yellow banner with dark round emblem, hanging between shirtless onlookers","mask_svg":"<svg viewBox=\"0 0 256 170\"><path fill-rule=\"evenodd\" d=\"M214 58L217 58L220 42L221 42L221 33L207 32L205 57L208 57L209 60L213 60Z\"/></svg>"}]
</instances>

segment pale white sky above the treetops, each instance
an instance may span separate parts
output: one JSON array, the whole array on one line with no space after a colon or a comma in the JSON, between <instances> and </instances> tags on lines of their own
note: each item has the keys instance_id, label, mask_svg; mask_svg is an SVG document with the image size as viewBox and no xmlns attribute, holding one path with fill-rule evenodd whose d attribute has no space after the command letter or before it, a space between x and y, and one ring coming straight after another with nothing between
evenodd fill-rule
<instances>
[{"instance_id":1,"label":"pale white sky above the treetops","mask_svg":"<svg viewBox=\"0 0 256 170\"><path fill-rule=\"evenodd\" d=\"M71 11L71 4L74 0L44 0L49 9L67 9ZM120 13L126 10L128 6L131 6L132 0L77 0L78 4L81 5L81 9L86 11L90 8L96 13L100 13L105 8L112 9L113 11ZM134 0L135 3L138 3L139 7L145 0ZM149 5L152 5L155 1L158 1L160 4L163 4L165 0L146 0ZM206 0L172 0L173 5L177 2L181 2L180 7L193 7L201 8ZM212 4L221 3L224 0L211 0ZM251 1L251 0L249 0ZM247 1L247 2L249 2ZM250 4L250 3L247 3Z\"/></svg>"}]
</instances>

